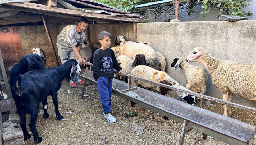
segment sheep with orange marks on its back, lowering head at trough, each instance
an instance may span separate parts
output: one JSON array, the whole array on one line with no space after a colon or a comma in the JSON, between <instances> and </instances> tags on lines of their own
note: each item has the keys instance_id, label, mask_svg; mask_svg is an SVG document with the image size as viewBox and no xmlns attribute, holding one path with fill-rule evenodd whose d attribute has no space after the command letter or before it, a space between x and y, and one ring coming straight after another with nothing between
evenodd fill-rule
<instances>
[{"instance_id":1,"label":"sheep with orange marks on its back, lowering head at trough","mask_svg":"<svg viewBox=\"0 0 256 145\"><path fill-rule=\"evenodd\" d=\"M156 81L158 83L166 84L169 86L174 86L174 87L181 88L184 90L188 90L185 87L183 87L182 85L180 85L176 80L171 78L168 74L166 74L166 72L155 70L149 66L141 66L141 65L136 66L132 69L131 75L141 77L144 79L149 79L152 81ZM191 104L191 105L196 104L195 96L191 96L191 95L188 95L185 93L181 93L179 91L171 90L171 89L161 87L158 85L154 85L151 83L146 83L144 81L134 79L134 78L131 79L131 83L132 83L132 85L135 85L135 86L141 85L144 88L155 90L161 95L177 94L177 95L181 96L181 97L179 97L179 100L184 99L186 101L186 103L188 103L188 104Z\"/></svg>"}]
</instances>

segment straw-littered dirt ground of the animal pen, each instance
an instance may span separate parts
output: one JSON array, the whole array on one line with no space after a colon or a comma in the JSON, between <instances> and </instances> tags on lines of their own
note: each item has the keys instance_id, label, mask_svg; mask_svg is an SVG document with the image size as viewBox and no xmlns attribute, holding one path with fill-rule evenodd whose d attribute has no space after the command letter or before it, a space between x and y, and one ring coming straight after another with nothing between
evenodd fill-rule
<instances>
[{"instance_id":1,"label":"straw-littered dirt ground of the animal pen","mask_svg":"<svg viewBox=\"0 0 256 145\"><path fill-rule=\"evenodd\" d=\"M47 67L56 67L54 57L47 57ZM60 63L61 64L61 63ZM70 91L70 94L68 93ZM102 105L97 86L86 86L85 94L89 95L81 99L82 85L70 88L68 82L62 81L61 89L58 91L59 110L64 119L57 120L55 108L51 97L48 97L49 118L43 118L43 108L40 105L36 128L40 137L43 138L40 145L85 145L104 144L105 137L109 145L177 145L179 144L182 124L174 120L164 120L163 116L148 110L140 105L130 106L130 101L112 94L111 114L117 118L116 123L108 123L103 118ZM204 109L223 113L223 106L211 102L207 105L205 100ZM65 112L72 111L72 114ZM126 117L125 114L137 112L138 116ZM256 125L256 116L243 110L233 108L233 118L242 122ZM27 124L30 115L27 114ZM135 130L135 126L145 129L142 134ZM27 126L28 131L30 128ZM140 132L141 133L141 132ZM104 136L104 137L103 137ZM26 145L34 145L33 136L26 140ZM185 135L184 145L193 145L197 139L202 139L202 133L192 130ZM226 145L217 139L207 136L206 141L198 141L196 145Z\"/></svg>"}]
</instances>

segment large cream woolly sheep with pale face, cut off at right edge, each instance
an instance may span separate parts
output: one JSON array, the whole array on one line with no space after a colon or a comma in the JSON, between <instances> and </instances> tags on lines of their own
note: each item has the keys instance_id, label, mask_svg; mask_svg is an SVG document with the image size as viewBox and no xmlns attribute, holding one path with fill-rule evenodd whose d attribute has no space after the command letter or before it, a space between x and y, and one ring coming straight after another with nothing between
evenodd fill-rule
<instances>
[{"instance_id":1,"label":"large cream woolly sheep with pale face, cut off at right edge","mask_svg":"<svg viewBox=\"0 0 256 145\"><path fill-rule=\"evenodd\" d=\"M188 62L202 63L212 78L212 83L222 94L223 100L232 102L233 93L246 100L256 101L256 64L240 64L213 57L201 47L194 48L186 58ZM224 105L225 116L232 116L232 109Z\"/></svg>"}]
</instances>

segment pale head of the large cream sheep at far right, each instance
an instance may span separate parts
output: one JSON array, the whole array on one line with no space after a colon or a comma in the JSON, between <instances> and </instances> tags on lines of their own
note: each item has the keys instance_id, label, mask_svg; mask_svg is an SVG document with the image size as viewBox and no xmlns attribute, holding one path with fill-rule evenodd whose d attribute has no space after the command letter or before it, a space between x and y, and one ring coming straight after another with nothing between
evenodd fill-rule
<instances>
[{"instance_id":1,"label":"pale head of the large cream sheep at far right","mask_svg":"<svg viewBox=\"0 0 256 145\"><path fill-rule=\"evenodd\" d=\"M186 58L187 62L199 62L202 59L203 49L201 47L194 48Z\"/></svg>"}]
</instances>

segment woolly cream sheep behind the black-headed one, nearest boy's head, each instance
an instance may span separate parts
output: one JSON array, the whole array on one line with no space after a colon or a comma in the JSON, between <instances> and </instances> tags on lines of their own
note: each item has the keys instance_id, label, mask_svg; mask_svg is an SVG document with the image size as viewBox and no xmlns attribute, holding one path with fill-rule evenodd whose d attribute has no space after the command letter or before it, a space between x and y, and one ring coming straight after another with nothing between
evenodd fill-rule
<instances>
[{"instance_id":1,"label":"woolly cream sheep behind the black-headed one, nearest boy's head","mask_svg":"<svg viewBox=\"0 0 256 145\"><path fill-rule=\"evenodd\" d=\"M126 55L129 58L134 59L136 54L145 54L148 66L154 67L157 64L155 50L149 45L127 41L125 36L118 36L117 38L120 38L120 45L111 48L115 52L116 57L119 55Z\"/></svg>"}]
</instances>

